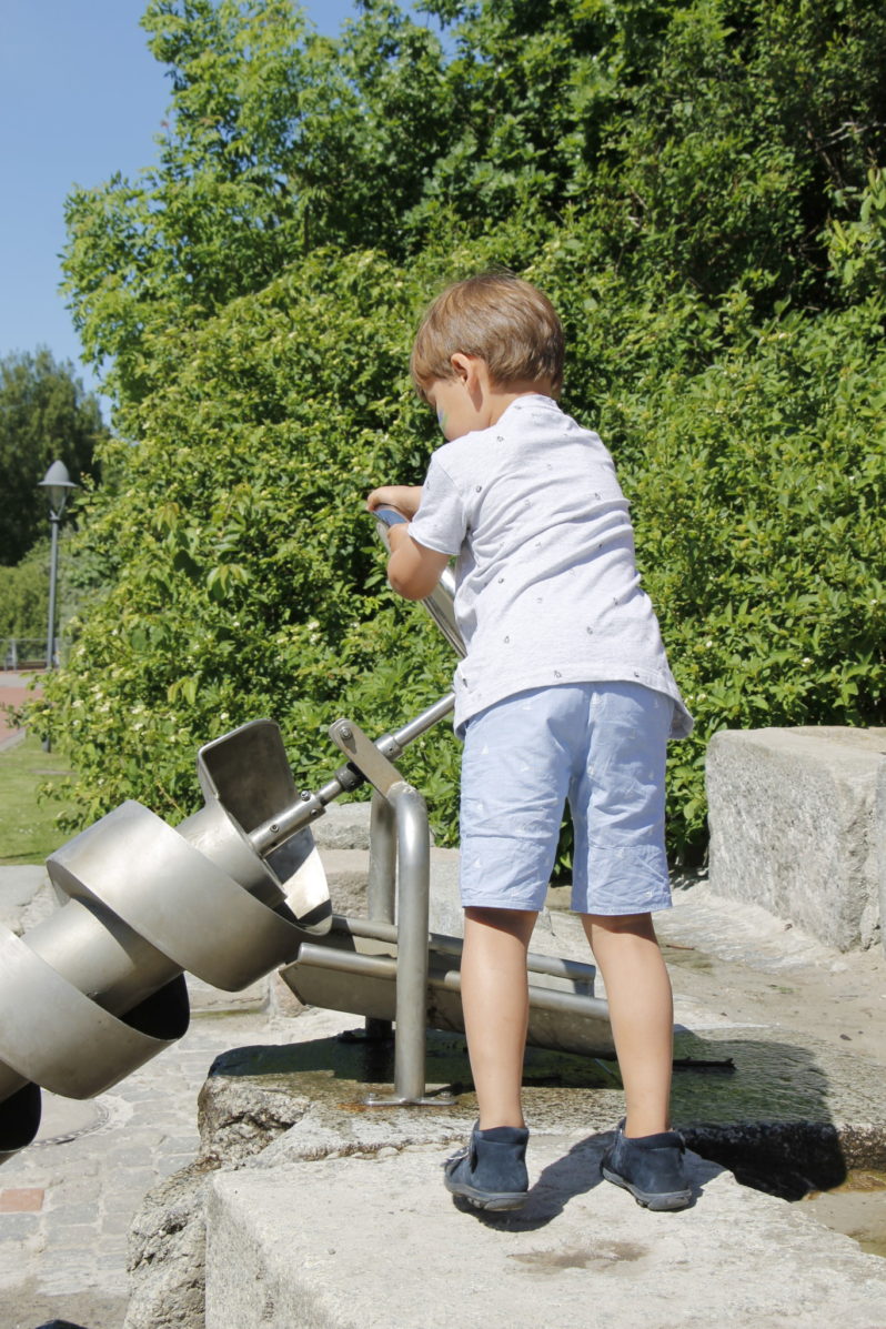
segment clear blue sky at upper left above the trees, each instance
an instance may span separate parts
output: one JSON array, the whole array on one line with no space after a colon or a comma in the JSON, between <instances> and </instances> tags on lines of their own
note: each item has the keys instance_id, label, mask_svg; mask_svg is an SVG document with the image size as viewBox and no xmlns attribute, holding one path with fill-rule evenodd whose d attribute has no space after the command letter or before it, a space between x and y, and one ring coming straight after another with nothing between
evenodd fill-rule
<instances>
[{"instance_id":1,"label":"clear blue sky at upper left above the trees","mask_svg":"<svg viewBox=\"0 0 886 1329\"><path fill-rule=\"evenodd\" d=\"M308 0L333 35L351 0ZM154 161L169 82L138 20L145 0L0 0L0 356L48 346L86 387L58 294L72 185L134 175Z\"/></svg>"}]
</instances>

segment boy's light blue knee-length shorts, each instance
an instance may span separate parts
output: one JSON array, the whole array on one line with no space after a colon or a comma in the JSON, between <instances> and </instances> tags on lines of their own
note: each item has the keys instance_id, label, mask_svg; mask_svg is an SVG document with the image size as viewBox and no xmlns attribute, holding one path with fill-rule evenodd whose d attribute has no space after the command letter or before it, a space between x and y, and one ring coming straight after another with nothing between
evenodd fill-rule
<instances>
[{"instance_id":1,"label":"boy's light blue knee-length shorts","mask_svg":"<svg viewBox=\"0 0 886 1329\"><path fill-rule=\"evenodd\" d=\"M462 905L541 909L569 799L573 909L667 909L672 712L669 696L640 683L565 683L518 692L473 716L461 767Z\"/></svg>"}]
</instances>

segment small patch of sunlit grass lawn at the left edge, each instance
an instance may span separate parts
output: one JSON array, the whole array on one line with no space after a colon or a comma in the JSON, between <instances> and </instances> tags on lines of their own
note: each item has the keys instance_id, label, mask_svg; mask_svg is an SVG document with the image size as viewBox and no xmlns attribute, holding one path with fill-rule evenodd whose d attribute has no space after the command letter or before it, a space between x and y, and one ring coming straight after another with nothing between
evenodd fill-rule
<instances>
[{"instance_id":1,"label":"small patch of sunlit grass lawn at the left edge","mask_svg":"<svg viewBox=\"0 0 886 1329\"><path fill-rule=\"evenodd\" d=\"M70 839L54 824L65 804L37 796L50 776L66 773L64 759L31 734L0 752L0 864L43 863Z\"/></svg>"}]
</instances>

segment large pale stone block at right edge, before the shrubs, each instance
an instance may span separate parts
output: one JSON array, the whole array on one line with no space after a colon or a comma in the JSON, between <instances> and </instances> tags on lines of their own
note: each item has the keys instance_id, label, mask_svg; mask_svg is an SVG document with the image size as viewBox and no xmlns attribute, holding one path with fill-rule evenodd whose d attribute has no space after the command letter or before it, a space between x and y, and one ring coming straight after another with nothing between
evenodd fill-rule
<instances>
[{"instance_id":1,"label":"large pale stone block at right edge, before the shrubs","mask_svg":"<svg viewBox=\"0 0 886 1329\"><path fill-rule=\"evenodd\" d=\"M879 940L886 730L724 730L707 787L715 892L842 952Z\"/></svg>"}]
</instances>

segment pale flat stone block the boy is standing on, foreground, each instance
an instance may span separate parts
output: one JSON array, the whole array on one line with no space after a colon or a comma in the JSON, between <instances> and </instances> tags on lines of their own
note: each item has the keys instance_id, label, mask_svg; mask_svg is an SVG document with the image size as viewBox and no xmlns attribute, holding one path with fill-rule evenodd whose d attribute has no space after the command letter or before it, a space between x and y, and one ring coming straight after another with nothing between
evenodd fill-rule
<instances>
[{"instance_id":1,"label":"pale flat stone block the boy is standing on, foreground","mask_svg":"<svg viewBox=\"0 0 886 1329\"><path fill-rule=\"evenodd\" d=\"M514 1215L449 1200L438 1146L217 1174L206 1329L883 1324L882 1260L693 1155L696 1204L642 1211L600 1180L606 1140L535 1136Z\"/></svg>"}]
</instances>

